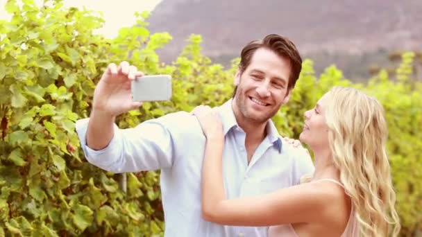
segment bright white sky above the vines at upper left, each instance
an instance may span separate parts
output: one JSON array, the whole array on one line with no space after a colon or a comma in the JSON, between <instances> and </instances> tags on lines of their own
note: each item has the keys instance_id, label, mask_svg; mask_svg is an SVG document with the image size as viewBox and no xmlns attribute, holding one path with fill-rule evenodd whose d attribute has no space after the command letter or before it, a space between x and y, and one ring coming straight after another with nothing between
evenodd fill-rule
<instances>
[{"instance_id":1,"label":"bright white sky above the vines at upper left","mask_svg":"<svg viewBox=\"0 0 422 237\"><path fill-rule=\"evenodd\" d=\"M4 10L7 0L0 0L0 19L10 19L10 15ZM38 6L42 5L44 0L34 0ZM97 30L98 33L108 38L117 36L121 27L132 26L135 24L135 12L144 10L152 11L162 0L64 0L65 6L74 6L103 12L105 20L103 28Z\"/></svg>"}]
</instances>

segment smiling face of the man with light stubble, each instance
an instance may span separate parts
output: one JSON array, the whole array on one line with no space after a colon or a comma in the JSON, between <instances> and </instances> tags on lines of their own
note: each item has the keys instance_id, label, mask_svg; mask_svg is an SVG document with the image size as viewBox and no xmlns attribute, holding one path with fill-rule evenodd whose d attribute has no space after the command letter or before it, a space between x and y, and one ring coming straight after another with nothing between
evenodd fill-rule
<instances>
[{"instance_id":1,"label":"smiling face of the man with light stubble","mask_svg":"<svg viewBox=\"0 0 422 237\"><path fill-rule=\"evenodd\" d=\"M290 73L289 60L268 49L255 51L249 66L235 78L233 109L238 122L266 123L274 116L289 100Z\"/></svg>"}]
</instances>

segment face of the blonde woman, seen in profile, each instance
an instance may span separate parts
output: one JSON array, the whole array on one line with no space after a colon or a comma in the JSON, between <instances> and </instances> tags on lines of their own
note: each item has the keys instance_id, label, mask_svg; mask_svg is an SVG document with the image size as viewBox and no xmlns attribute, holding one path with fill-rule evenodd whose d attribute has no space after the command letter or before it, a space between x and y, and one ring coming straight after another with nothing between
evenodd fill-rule
<instances>
[{"instance_id":1,"label":"face of the blonde woman, seen in profile","mask_svg":"<svg viewBox=\"0 0 422 237\"><path fill-rule=\"evenodd\" d=\"M312 150L329 148L328 126L326 123L325 109L328 96L325 94L316 103L313 109L305 112L305 125L299 139L306 143Z\"/></svg>"}]
</instances>

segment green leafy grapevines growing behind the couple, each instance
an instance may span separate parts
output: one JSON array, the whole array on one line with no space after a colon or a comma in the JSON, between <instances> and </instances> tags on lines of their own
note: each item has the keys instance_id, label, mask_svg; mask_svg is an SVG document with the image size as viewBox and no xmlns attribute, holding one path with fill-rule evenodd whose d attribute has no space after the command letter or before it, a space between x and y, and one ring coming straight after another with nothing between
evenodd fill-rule
<instances>
[{"instance_id":1,"label":"green leafy grapevines growing behind the couple","mask_svg":"<svg viewBox=\"0 0 422 237\"><path fill-rule=\"evenodd\" d=\"M94 12L48 1L8 0L10 21L0 21L0 236L154 236L164 223L158 172L128 173L127 193L117 175L85 161L74 130L90 114L96 82L107 64L127 60L148 74L174 78L174 95L164 103L144 103L119 116L120 128L137 125L201 103L221 105L232 96L238 59L230 69L201 54L201 36L171 65L155 53L171 35L150 33L147 12L121 28L113 40L92 31L103 24ZM303 64L291 101L274 121L298 137L303 112L332 85L364 89L385 106L389 154L398 192L403 236L422 223L422 85L410 78L414 55L403 55L398 80L381 71L367 85L355 85L329 67L319 77L310 60Z\"/></svg>"}]
</instances>

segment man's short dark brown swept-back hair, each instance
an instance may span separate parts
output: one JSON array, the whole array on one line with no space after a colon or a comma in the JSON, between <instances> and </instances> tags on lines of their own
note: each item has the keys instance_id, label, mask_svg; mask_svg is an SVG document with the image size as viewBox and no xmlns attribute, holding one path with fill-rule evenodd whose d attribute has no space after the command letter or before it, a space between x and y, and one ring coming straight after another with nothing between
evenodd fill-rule
<instances>
[{"instance_id":1,"label":"man's short dark brown swept-back hair","mask_svg":"<svg viewBox=\"0 0 422 237\"><path fill-rule=\"evenodd\" d=\"M249 64L251 64L253 54L258 49L269 49L278 56L289 60L292 71L290 73L287 89L293 89L302 70L302 58L293 42L287 37L282 37L281 35L276 34L267 35L262 40L254 40L250 42L242 49L242 53L240 53L239 71L241 75L244 73ZM233 97L236 94L236 90L237 87L235 88Z\"/></svg>"}]
</instances>

